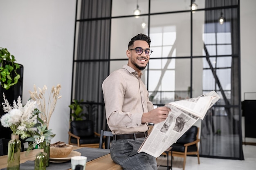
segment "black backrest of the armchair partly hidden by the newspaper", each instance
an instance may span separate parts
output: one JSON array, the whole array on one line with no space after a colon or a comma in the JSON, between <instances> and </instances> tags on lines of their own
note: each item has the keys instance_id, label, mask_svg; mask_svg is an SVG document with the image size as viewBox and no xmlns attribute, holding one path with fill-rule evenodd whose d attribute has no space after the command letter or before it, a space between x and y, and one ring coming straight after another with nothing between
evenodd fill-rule
<instances>
[{"instance_id":1,"label":"black backrest of the armchair partly hidden by the newspaper","mask_svg":"<svg viewBox=\"0 0 256 170\"><path fill-rule=\"evenodd\" d=\"M190 142L193 142L197 139L198 134L198 127L197 126L191 126L189 130L187 130L180 139L177 140L177 144L187 144Z\"/></svg>"}]
</instances>

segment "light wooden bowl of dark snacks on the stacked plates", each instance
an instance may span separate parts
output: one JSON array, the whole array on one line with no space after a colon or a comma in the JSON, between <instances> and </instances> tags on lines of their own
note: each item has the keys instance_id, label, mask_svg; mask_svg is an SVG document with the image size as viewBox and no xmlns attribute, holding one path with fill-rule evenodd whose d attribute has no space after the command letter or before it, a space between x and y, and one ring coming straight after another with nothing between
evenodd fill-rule
<instances>
[{"instance_id":1,"label":"light wooden bowl of dark snacks on the stacked plates","mask_svg":"<svg viewBox=\"0 0 256 170\"><path fill-rule=\"evenodd\" d=\"M57 141L50 145L50 158L65 158L70 155L72 149L72 145Z\"/></svg>"}]
</instances>

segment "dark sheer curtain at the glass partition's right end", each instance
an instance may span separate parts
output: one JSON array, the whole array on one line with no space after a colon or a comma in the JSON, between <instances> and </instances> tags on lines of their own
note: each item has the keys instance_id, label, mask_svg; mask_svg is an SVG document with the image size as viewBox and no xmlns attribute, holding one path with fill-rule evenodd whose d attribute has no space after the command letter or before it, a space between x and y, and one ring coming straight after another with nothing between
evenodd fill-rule
<instances>
[{"instance_id":1,"label":"dark sheer curtain at the glass partition's right end","mask_svg":"<svg viewBox=\"0 0 256 170\"><path fill-rule=\"evenodd\" d=\"M205 33L231 33L231 91L226 93L221 84L216 90L222 102L213 106L202 120L200 156L243 160L240 110L240 44L237 0L205 0ZM219 23L220 15L225 18ZM216 60L218 59L216 54ZM218 61L218 60L217 60ZM218 77L215 77L218 78ZM217 81L217 80L216 80ZM228 95L230 95L228 97ZM224 108L225 114L220 114ZM215 123L214 123L215 122ZM216 127L220 127L216 131Z\"/></svg>"}]
</instances>

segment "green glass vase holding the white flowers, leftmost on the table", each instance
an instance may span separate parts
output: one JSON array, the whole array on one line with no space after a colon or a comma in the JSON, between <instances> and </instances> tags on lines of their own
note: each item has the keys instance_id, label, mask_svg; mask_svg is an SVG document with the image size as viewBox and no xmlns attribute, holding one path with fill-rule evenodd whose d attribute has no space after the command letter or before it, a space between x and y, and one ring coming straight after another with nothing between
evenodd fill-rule
<instances>
[{"instance_id":1,"label":"green glass vase holding the white flowers, leftmost on the table","mask_svg":"<svg viewBox=\"0 0 256 170\"><path fill-rule=\"evenodd\" d=\"M20 147L19 135L11 134L11 140L8 143L7 170L20 169Z\"/></svg>"}]
</instances>

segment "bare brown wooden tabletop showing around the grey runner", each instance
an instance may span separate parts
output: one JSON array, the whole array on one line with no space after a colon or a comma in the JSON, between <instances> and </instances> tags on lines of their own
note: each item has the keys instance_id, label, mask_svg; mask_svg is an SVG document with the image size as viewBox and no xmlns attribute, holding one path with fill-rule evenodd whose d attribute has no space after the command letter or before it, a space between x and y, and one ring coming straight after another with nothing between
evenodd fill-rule
<instances>
[{"instance_id":1,"label":"bare brown wooden tabletop showing around the grey runner","mask_svg":"<svg viewBox=\"0 0 256 170\"><path fill-rule=\"evenodd\" d=\"M81 147L74 147L73 150L79 149ZM34 161L35 156L38 153L38 149L31 150L29 154L26 155L25 152L20 152L20 163L25 163L26 161ZM0 156L0 169L7 167L7 155ZM71 169L69 169L71 170ZM110 154L104 155L92 161L86 163L86 170L122 170L121 166L117 165L110 157Z\"/></svg>"}]
</instances>

